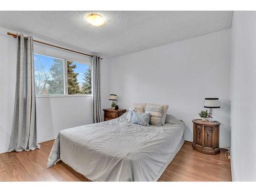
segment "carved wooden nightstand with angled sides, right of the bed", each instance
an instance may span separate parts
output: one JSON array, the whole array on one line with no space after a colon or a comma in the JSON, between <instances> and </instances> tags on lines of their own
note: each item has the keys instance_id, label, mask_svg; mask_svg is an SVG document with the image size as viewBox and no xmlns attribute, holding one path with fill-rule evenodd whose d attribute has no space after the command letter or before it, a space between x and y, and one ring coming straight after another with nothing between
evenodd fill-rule
<instances>
[{"instance_id":1,"label":"carved wooden nightstand with angled sides, right of the bed","mask_svg":"<svg viewBox=\"0 0 256 192\"><path fill-rule=\"evenodd\" d=\"M193 148L198 152L216 155L221 152L219 148L220 122L208 122L194 119Z\"/></svg>"}]
</instances>

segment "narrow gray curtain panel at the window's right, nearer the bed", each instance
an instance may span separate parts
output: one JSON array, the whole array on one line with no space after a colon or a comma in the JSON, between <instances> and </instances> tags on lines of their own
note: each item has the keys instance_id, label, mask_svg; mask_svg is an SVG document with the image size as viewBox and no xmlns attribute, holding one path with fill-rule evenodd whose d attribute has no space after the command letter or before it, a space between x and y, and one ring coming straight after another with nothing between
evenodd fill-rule
<instances>
[{"instance_id":1,"label":"narrow gray curtain panel at the window's right, nearer the bed","mask_svg":"<svg viewBox=\"0 0 256 192\"><path fill-rule=\"evenodd\" d=\"M93 122L101 122L100 106L100 57L93 55L92 62Z\"/></svg>"}]
</instances>

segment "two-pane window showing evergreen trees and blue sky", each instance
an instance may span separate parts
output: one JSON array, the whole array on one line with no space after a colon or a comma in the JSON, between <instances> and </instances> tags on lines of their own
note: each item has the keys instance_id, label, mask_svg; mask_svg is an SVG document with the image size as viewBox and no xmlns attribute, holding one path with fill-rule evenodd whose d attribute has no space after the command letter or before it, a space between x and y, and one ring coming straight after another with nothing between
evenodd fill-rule
<instances>
[{"instance_id":1,"label":"two-pane window showing evergreen trees and blue sky","mask_svg":"<svg viewBox=\"0 0 256 192\"><path fill-rule=\"evenodd\" d=\"M36 95L92 94L91 66L34 54Z\"/></svg>"}]
</instances>

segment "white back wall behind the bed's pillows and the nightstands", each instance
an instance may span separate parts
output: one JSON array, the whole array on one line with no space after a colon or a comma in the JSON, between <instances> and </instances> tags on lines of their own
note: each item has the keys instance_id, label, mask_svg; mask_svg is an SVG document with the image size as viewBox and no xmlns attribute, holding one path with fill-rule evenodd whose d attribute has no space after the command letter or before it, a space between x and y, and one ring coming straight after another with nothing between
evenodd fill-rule
<instances>
[{"instance_id":1,"label":"white back wall behind the bed's pillows and the nightstands","mask_svg":"<svg viewBox=\"0 0 256 192\"><path fill-rule=\"evenodd\" d=\"M183 119L185 139L205 97L219 97L220 146L230 146L230 29L110 59L110 92L119 108L132 102L168 104L168 114Z\"/></svg>"}]
</instances>

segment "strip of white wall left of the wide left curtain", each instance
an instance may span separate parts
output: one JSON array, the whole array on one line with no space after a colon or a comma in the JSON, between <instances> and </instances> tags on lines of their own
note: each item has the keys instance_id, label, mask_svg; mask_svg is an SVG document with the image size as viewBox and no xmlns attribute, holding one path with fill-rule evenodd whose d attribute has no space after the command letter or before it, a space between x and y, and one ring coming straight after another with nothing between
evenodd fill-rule
<instances>
[{"instance_id":1,"label":"strip of white wall left of the wide left curtain","mask_svg":"<svg viewBox=\"0 0 256 192\"><path fill-rule=\"evenodd\" d=\"M0 28L0 153L8 150L14 109L16 44Z\"/></svg>"}]
</instances>

